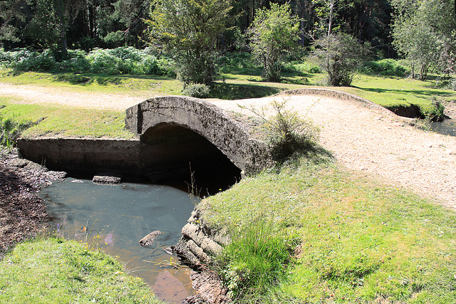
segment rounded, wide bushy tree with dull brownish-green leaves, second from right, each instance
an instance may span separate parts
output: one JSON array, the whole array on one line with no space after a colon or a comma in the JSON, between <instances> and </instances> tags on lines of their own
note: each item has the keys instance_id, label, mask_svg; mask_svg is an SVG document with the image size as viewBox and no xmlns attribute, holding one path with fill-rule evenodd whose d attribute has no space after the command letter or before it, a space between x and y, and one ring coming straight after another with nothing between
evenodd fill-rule
<instances>
[{"instance_id":1,"label":"rounded, wide bushy tree with dull brownish-green leaves, second from right","mask_svg":"<svg viewBox=\"0 0 456 304\"><path fill-rule=\"evenodd\" d=\"M335 33L316 41L314 55L328 72L328 84L348 86L368 49L346 33Z\"/></svg>"}]
</instances>

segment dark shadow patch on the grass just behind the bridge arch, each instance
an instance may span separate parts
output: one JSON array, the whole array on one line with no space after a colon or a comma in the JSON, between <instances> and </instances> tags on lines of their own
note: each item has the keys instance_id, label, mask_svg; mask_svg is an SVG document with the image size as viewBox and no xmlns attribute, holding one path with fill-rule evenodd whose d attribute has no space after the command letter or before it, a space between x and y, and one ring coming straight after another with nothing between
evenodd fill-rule
<instances>
[{"instance_id":1,"label":"dark shadow patch on the grass just behind the bridge arch","mask_svg":"<svg viewBox=\"0 0 456 304\"><path fill-rule=\"evenodd\" d=\"M281 92L283 89L268 85L213 83L210 98L237 100L245 98L262 98Z\"/></svg>"}]
</instances>

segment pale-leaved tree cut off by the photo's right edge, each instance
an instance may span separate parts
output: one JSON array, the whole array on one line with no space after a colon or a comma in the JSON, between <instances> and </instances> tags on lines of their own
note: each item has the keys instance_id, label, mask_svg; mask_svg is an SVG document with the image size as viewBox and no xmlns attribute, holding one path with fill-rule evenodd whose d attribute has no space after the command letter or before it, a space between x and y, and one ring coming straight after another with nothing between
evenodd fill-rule
<instances>
[{"instance_id":1,"label":"pale-leaved tree cut off by the photo's right edge","mask_svg":"<svg viewBox=\"0 0 456 304\"><path fill-rule=\"evenodd\" d=\"M420 72L455 71L456 19L454 0L393 0L396 9L393 26L393 46Z\"/></svg>"}]
</instances>

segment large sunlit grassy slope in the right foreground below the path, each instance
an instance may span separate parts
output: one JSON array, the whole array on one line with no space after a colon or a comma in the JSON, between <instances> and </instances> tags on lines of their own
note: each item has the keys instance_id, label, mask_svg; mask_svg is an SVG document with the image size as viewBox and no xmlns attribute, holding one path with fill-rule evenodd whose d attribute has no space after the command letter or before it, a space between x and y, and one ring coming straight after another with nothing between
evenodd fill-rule
<instances>
[{"instance_id":1,"label":"large sunlit grassy slope in the right foreground below the path","mask_svg":"<svg viewBox=\"0 0 456 304\"><path fill-rule=\"evenodd\" d=\"M262 303L455 303L455 212L316 159L243 179L202 202L214 226L274 221L270 238L299 240L288 278L264 287ZM252 271L243 265L238 273Z\"/></svg>"}]
</instances>

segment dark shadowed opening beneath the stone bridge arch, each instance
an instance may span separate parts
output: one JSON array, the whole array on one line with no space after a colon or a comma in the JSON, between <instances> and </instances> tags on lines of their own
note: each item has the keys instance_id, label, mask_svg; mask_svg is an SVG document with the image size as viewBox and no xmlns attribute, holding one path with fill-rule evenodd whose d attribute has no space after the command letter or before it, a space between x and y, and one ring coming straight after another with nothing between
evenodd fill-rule
<instances>
[{"instance_id":1,"label":"dark shadowed opening beneath the stone bridge arch","mask_svg":"<svg viewBox=\"0 0 456 304\"><path fill-rule=\"evenodd\" d=\"M155 184L171 184L206 196L228 189L241 179L241 169L212 142L189 128L161 123L141 136L147 155L155 165L147 179Z\"/></svg>"}]
</instances>

